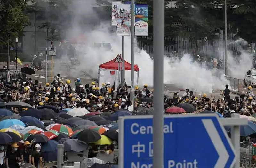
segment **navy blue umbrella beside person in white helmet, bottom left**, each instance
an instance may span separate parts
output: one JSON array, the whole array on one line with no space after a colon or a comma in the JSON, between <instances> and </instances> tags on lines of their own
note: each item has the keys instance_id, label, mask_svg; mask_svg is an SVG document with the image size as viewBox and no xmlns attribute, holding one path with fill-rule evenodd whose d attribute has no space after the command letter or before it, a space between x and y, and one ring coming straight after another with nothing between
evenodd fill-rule
<instances>
[{"instance_id":1,"label":"navy blue umbrella beside person in white helmet, bottom left","mask_svg":"<svg viewBox=\"0 0 256 168\"><path fill-rule=\"evenodd\" d=\"M49 140L47 143L42 144L41 152L44 161L51 162L57 160L57 145L58 142Z\"/></svg>"}]
</instances>

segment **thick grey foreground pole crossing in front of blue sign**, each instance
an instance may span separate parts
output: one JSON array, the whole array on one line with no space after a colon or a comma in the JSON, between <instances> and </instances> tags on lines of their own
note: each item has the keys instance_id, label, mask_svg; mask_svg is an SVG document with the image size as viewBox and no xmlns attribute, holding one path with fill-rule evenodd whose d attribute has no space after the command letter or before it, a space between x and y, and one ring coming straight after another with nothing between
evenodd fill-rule
<instances>
[{"instance_id":1,"label":"thick grey foreground pole crossing in front of blue sign","mask_svg":"<svg viewBox=\"0 0 256 168\"><path fill-rule=\"evenodd\" d=\"M153 167L156 168L164 167L164 0L153 1L153 56L153 148L156 149Z\"/></svg>"}]
</instances>

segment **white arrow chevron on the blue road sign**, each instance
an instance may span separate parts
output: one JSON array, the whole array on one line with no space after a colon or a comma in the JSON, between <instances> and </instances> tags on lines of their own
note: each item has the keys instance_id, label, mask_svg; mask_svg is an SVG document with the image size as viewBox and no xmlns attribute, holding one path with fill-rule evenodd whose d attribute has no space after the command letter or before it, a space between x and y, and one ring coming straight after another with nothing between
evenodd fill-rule
<instances>
[{"instance_id":1,"label":"white arrow chevron on the blue road sign","mask_svg":"<svg viewBox=\"0 0 256 168\"><path fill-rule=\"evenodd\" d=\"M215 164L214 168L225 167L225 165L227 164L229 155L225 145L221 141L220 135L217 129L215 128L215 125L213 124L211 119L202 119L202 122L204 124L204 127L208 135L210 136L210 139L212 140L213 146L215 147L219 155L219 159L217 160L217 163Z\"/></svg>"}]
</instances>

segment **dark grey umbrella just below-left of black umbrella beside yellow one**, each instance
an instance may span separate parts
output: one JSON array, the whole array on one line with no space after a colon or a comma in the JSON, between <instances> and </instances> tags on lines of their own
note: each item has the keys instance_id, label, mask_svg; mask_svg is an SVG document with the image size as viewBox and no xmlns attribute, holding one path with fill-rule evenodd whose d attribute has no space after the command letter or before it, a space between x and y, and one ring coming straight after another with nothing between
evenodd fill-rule
<instances>
[{"instance_id":1,"label":"dark grey umbrella just below-left of black umbrella beside yellow one","mask_svg":"<svg viewBox=\"0 0 256 168\"><path fill-rule=\"evenodd\" d=\"M88 145L84 141L80 141L78 139L62 138L59 142L61 144L64 144L64 152L81 152L83 150L86 150L88 147Z\"/></svg>"}]
</instances>

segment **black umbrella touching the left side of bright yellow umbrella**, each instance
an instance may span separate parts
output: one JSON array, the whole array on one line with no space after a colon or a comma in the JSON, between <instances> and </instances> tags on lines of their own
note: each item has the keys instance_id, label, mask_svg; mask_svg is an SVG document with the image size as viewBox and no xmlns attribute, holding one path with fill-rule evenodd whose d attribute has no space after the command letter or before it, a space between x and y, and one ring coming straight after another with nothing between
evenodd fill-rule
<instances>
[{"instance_id":1,"label":"black umbrella touching the left side of bright yellow umbrella","mask_svg":"<svg viewBox=\"0 0 256 168\"><path fill-rule=\"evenodd\" d=\"M101 136L98 133L98 131L95 131L95 130L92 130L92 129L85 129L77 135L77 138L80 141L90 143L90 142L98 141L101 138Z\"/></svg>"}]
</instances>

